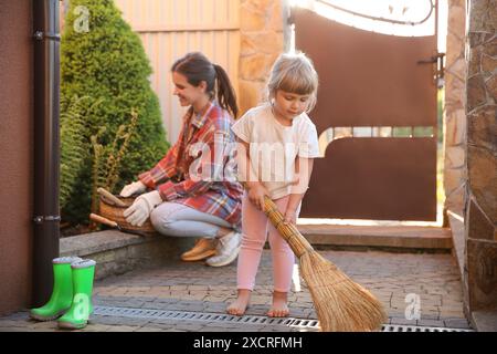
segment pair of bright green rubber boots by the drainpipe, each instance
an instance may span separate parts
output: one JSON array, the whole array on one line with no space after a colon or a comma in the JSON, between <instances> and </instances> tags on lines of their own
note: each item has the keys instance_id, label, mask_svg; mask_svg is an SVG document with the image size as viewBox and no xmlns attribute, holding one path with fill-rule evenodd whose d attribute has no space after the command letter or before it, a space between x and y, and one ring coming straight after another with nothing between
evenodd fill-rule
<instances>
[{"instance_id":1,"label":"pair of bright green rubber boots by the drainpipe","mask_svg":"<svg viewBox=\"0 0 497 354\"><path fill-rule=\"evenodd\" d=\"M93 313L92 290L96 262L78 257L62 257L55 258L52 263L52 296L43 306L32 309L30 316L38 321L59 319L59 327L62 329L83 329Z\"/></svg>"}]
</instances>

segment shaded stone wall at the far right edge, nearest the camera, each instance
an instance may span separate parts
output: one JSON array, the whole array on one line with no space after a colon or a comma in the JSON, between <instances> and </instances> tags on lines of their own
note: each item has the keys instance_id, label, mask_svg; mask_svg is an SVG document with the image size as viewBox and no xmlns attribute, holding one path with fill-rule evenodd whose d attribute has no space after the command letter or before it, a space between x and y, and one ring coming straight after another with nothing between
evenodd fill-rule
<instances>
[{"instance_id":1,"label":"shaded stone wall at the far right edge, nearest the camera","mask_svg":"<svg viewBox=\"0 0 497 354\"><path fill-rule=\"evenodd\" d=\"M473 312L497 308L497 0L469 1L468 21L464 288Z\"/></svg>"}]
</instances>

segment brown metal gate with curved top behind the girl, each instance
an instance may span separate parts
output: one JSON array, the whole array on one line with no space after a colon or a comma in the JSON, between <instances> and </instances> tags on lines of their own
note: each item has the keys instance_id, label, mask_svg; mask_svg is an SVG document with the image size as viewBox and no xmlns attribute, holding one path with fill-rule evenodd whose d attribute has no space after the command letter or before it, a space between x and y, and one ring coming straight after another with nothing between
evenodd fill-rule
<instances>
[{"instance_id":1,"label":"brown metal gate with curved top behind the girl","mask_svg":"<svg viewBox=\"0 0 497 354\"><path fill-rule=\"evenodd\" d=\"M295 46L319 74L310 116L324 154L315 160L302 217L436 220L441 55L431 4L434 34L423 37L366 31L292 9Z\"/></svg>"}]
</instances>

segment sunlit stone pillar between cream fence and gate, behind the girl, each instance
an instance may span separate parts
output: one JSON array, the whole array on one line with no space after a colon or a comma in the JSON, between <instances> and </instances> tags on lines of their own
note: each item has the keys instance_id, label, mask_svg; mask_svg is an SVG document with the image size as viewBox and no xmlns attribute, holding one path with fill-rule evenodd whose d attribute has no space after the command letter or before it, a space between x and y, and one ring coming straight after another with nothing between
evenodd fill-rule
<instances>
[{"instance_id":1,"label":"sunlit stone pillar between cream fence and gate, behind the girl","mask_svg":"<svg viewBox=\"0 0 497 354\"><path fill-rule=\"evenodd\" d=\"M285 49L286 0L241 1L239 103L241 114L261 103L271 66Z\"/></svg>"}]
</instances>

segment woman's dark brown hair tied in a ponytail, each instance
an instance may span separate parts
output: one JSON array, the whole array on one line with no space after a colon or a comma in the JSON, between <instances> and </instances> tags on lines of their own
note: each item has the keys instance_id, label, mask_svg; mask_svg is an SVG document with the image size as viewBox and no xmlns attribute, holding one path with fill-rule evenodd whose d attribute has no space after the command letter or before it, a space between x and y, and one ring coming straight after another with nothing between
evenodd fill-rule
<instances>
[{"instance_id":1,"label":"woman's dark brown hair tied in a ponytail","mask_svg":"<svg viewBox=\"0 0 497 354\"><path fill-rule=\"evenodd\" d=\"M178 59L171 66L171 72L177 72L184 77L190 85L198 86L200 82L207 83L207 93L211 98L218 95L218 103L224 110L231 112L233 117L239 114L236 95L224 69L212 64L205 55L200 52L188 53ZM218 81L218 85L215 85Z\"/></svg>"}]
</instances>

